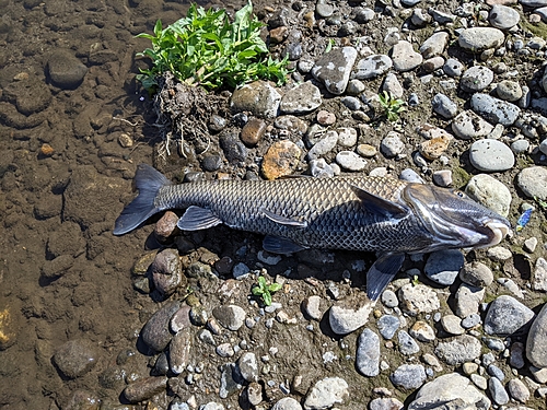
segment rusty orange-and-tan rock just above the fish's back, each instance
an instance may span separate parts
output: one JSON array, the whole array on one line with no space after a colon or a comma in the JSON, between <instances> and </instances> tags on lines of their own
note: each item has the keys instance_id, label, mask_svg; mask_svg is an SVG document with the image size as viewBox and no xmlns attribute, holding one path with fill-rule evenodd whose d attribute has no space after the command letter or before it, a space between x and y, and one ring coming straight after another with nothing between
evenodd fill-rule
<instances>
[{"instance_id":1,"label":"rusty orange-and-tan rock just above the fish's back","mask_svg":"<svg viewBox=\"0 0 547 410\"><path fill-rule=\"evenodd\" d=\"M301 149L292 141L276 141L264 155L261 173L266 179L291 175L300 162Z\"/></svg>"}]
</instances>

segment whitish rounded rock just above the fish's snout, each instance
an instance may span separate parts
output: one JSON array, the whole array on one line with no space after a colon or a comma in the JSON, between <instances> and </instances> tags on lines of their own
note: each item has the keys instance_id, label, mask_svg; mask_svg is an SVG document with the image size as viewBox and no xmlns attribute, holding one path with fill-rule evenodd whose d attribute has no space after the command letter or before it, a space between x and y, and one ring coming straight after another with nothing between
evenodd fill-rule
<instances>
[{"instance_id":1,"label":"whitish rounded rock just above the fish's snout","mask_svg":"<svg viewBox=\"0 0 547 410\"><path fill-rule=\"evenodd\" d=\"M507 145L503 144L503 147ZM494 155L494 152L491 152L489 155ZM511 192L509 191L508 187L505 187L502 183L491 177L490 175L475 175L467 183L467 186L465 187L465 194L467 194L472 199L481 203L486 208L499 213L500 215L509 215L509 209L512 201Z\"/></svg>"}]
</instances>

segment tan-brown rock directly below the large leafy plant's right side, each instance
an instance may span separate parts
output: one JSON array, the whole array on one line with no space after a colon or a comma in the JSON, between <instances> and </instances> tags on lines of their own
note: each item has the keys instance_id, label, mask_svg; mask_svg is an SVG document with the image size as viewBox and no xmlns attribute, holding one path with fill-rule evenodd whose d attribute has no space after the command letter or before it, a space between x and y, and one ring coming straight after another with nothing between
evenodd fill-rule
<instances>
[{"instance_id":1,"label":"tan-brown rock directly below the large leafy plant's right side","mask_svg":"<svg viewBox=\"0 0 547 410\"><path fill-rule=\"evenodd\" d=\"M259 118L276 118L281 94L266 81L243 85L232 94L230 107L234 113L251 112Z\"/></svg>"}]
</instances>

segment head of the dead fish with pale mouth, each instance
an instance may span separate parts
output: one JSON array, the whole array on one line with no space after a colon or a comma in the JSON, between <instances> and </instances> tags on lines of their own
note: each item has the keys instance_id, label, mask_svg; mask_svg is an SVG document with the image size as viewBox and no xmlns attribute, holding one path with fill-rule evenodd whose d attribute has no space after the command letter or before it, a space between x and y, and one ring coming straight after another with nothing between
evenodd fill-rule
<instances>
[{"instance_id":1,"label":"head of the dead fish with pale mouth","mask_svg":"<svg viewBox=\"0 0 547 410\"><path fill-rule=\"evenodd\" d=\"M512 233L505 218L458 189L409 184L403 196L431 234L432 243L423 251L489 247Z\"/></svg>"}]
</instances>

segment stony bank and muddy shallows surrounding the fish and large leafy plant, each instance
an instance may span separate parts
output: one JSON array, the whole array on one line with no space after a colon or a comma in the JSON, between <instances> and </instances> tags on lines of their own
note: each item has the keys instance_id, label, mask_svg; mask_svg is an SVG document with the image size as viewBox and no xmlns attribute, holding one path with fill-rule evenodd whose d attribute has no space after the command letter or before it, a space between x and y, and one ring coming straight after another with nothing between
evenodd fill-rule
<instances>
[{"instance_id":1,"label":"stony bank and muddy shallows surrounding the fish and large leafy plant","mask_svg":"<svg viewBox=\"0 0 547 410\"><path fill-rule=\"evenodd\" d=\"M149 101L135 83L147 45L131 36L178 3L4 3L2 407L547 406L547 2L258 2L290 81L191 91L189 119L188 90L167 79ZM383 91L406 103L395 121ZM166 144L170 131L182 139ZM456 187L515 234L408 257L372 303L374 255L277 256L223 226L173 234L173 212L114 237L140 162L177 183L364 173ZM259 277L280 285L269 306L252 294Z\"/></svg>"}]
</instances>

